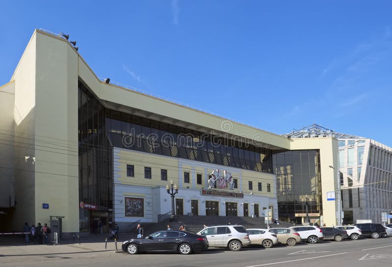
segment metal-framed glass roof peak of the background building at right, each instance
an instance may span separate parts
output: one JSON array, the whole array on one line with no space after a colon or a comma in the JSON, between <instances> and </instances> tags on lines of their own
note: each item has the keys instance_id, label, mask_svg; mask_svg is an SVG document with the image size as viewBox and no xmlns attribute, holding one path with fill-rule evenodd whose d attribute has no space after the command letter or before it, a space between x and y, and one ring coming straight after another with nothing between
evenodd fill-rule
<instances>
[{"instance_id":1,"label":"metal-framed glass roof peak of the background building at right","mask_svg":"<svg viewBox=\"0 0 392 267\"><path fill-rule=\"evenodd\" d=\"M282 134L282 136L288 138L334 137L336 139L364 139L361 136L338 133L316 123L299 130L293 129L290 133Z\"/></svg>"}]
</instances>

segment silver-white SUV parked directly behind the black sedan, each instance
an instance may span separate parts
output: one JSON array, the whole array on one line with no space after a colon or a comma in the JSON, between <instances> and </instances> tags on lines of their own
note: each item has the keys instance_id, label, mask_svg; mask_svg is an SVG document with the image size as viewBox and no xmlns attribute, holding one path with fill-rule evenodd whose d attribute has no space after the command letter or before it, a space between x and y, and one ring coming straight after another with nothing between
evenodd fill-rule
<instances>
[{"instance_id":1,"label":"silver-white SUV parked directly behind the black sedan","mask_svg":"<svg viewBox=\"0 0 392 267\"><path fill-rule=\"evenodd\" d=\"M228 247L232 251L249 245L249 235L242 225L217 225L206 227L197 233L205 236L210 247Z\"/></svg>"}]
</instances>

